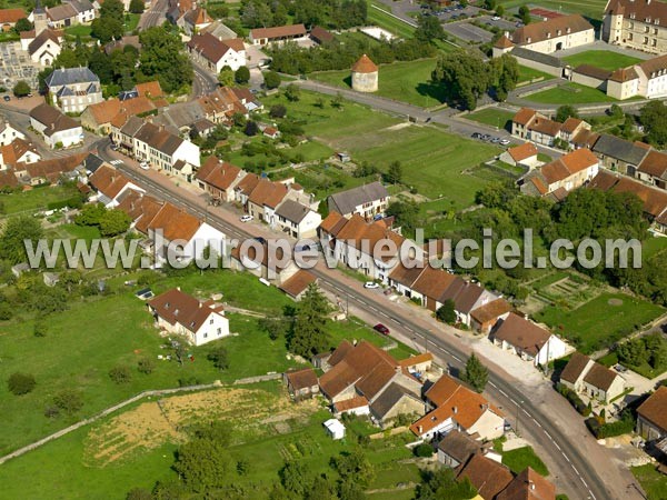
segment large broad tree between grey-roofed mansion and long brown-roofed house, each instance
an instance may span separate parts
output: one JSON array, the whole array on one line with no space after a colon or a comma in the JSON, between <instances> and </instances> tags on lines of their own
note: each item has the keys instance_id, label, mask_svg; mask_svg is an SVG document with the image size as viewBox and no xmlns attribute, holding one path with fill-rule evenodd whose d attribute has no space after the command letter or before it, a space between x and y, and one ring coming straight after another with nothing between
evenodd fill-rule
<instances>
[{"instance_id":1,"label":"large broad tree between grey-roofed mansion and long brown-roofed house","mask_svg":"<svg viewBox=\"0 0 667 500\"><path fill-rule=\"evenodd\" d=\"M139 41L141 81L157 78L166 92L175 92L192 83L192 64L183 52L178 33L153 27L142 30Z\"/></svg>"}]
</instances>

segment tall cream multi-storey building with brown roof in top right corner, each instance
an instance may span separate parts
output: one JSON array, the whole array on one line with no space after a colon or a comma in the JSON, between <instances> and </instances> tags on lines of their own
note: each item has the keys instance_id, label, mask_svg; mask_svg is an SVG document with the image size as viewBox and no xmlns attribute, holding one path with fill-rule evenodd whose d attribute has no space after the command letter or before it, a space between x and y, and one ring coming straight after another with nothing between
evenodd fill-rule
<instances>
[{"instance_id":1,"label":"tall cream multi-storey building with brown roof in top right corner","mask_svg":"<svg viewBox=\"0 0 667 500\"><path fill-rule=\"evenodd\" d=\"M603 40L651 53L667 52L667 3L657 0L609 0Z\"/></svg>"}]
</instances>

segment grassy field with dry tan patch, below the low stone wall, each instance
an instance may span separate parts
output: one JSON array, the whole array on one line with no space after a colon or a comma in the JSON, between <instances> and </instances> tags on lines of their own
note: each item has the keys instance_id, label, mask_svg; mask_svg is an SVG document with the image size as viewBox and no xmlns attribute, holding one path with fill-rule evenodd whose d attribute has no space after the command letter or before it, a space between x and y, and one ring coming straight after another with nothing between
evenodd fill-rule
<instances>
[{"instance_id":1,"label":"grassy field with dry tan patch, below the low stone wall","mask_svg":"<svg viewBox=\"0 0 667 500\"><path fill-rule=\"evenodd\" d=\"M187 439L185 429L193 422L216 420L235 428L229 447L232 460L250 464L246 474L232 480L253 488L255 498L266 498L279 481L278 471L286 460L307 463L309 473L327 472L335 479L331 457L356 446L357 436L377 432L366 421L355 420L347 423L346 439L332 441L321 426L330 414L315 400L292 404L279 381L178 394L161 399L160 407L143 400L11 460L0 469L4 494L125 499L131 488L150 489L156 480L175 478L170 466L176 447ZM410 458L404 447L407 440L409 436L402 434L366 447L376 471L370 489L391 491L399 482L419 481L417 467L405 462ZM64 456L68 460L60 460ZM16 477L30 477L31 481L10 480Z\"/></svg>"}]
</instances>

